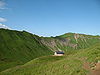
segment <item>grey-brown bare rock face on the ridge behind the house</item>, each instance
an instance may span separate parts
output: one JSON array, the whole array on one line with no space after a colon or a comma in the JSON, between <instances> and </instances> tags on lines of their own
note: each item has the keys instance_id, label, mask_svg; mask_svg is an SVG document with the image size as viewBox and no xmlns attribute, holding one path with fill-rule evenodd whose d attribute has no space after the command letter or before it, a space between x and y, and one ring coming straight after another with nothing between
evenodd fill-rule
<instances>
[{"instance_id":1,"label":"grey-brown bare rock face on the ridge behind the house","mask_svg":"<svg viewBox=\"0 0 100 75\"><path fill-rule=\"evenodd\" d=\"M63 38L63 39L49 39L49 41L46 41L46 39L41 39L41 42L48 46L52 50L62 50L65 48L67 50L67 47L71 47L73 49L77 49L77 43L71 43L69 39Z\"/></svg>"}]
</instances>

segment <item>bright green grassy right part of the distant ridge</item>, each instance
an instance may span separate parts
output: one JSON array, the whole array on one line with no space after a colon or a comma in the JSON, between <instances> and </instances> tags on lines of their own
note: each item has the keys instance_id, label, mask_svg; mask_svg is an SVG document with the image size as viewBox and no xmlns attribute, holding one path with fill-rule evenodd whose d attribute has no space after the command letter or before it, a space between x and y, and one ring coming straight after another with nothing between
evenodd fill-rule
<instances>
[{"instance_id":1,"label":"bright green grassy right part of the distant ridge","mask_svg":"<svg viewBox=\"0 0 100 75\"><path fill-rule=\"evenodd\" d=\"M70 38L70 42L73 44L77 44L77 49L84 49L93 46L96 43L100 42L100 36L92 36L92 35L85 35L85 34L76 34L77 41L75 40L76 33L66 33L61 35L60 37L63 38Z\"/></svg>"}]
</instances>

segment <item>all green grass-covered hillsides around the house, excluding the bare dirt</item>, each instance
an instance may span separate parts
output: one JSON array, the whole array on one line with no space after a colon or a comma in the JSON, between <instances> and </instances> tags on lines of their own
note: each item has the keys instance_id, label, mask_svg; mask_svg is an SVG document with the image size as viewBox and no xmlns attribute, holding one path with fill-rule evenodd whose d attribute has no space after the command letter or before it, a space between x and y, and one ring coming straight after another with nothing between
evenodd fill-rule
<instances>
[{"instance_id":1,"label":"all green grass-covered hillsides around the house, excluding the bare dirt","mask_svg":"<svg viewBox=\"0 0 100 75\"><path fill-rule=\"evenodd\" d=\"M66 33L39 37L26 31L0 29L0 75L87 75L85 62L100 60L100 36ZM53 55L64 50L61 57Z\"/></svg>"}]
</instances>

